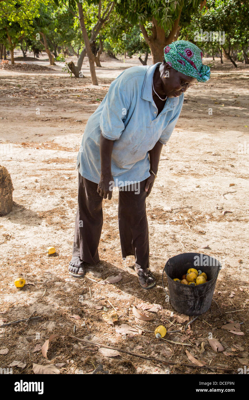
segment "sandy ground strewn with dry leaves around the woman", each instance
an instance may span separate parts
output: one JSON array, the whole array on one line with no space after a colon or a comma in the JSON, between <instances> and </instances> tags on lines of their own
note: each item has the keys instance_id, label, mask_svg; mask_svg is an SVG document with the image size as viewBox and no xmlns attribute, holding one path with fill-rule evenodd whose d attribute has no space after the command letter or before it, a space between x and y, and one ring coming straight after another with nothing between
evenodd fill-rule
<instances>
[{"instance_id":1,"label":"sandy ground strewn with dry leaves around the woman","mask_svg":"<svg viewBox=\"0 0 249 400\"><path fill-rule=\"evenodd\" d=\"M13 211L0 218L0 320L40 316L0 328L0 368L23 359L25 368L13 366L14 374L32 374L33 363L59 363L62 374L91 374L99 364L112 374L231 374L243 367L239 359L248 366L249 69L241 63L235 69L226 60L223 66L219 60L204 62L212 65L211 80L188 90L147 199L150 266L157 278L150 291L140 288L129 268L134 257L122 263L117 190L111 201L104 200L101 262L82 280L67 272L77 206L76 157L84 127L112 80L124 68L139 65L137 58L104 60L102 68L96 68L99 86L91 84L87 59L82 68L87 78L82 79L70 78L61 64L51 71L0 69L1 165L14 186ZM48 66L44 57L36 64ZM46 255L48 246L56 248L56 256ZM156 326L172 330L187 324L177 322L179 313L165 302L161 284L165 262L182 252L213 256L222 269L211 309L185 332L167 334L171 342L165 342L155 338ZM119 273L119 282L99 283ZM19 276L26 280L22 289L14 286ZM160 304L163 310L148 311L152 319L141 321L132 312L141 302ZM114 326L102 319L112 306L118 314ZM75 315L80 319L72 318ZM241 323L243 335L221 329L231 321ZM136 335L125 337L116 331L121 324L144 330L135 328ZM225 353L213 351L210 332ZM60 338L49 345L47 360L40 347L51 334ZM167 363L122 352L110 358L68 335ZM200 353L202 342L205 351ZM33 352L36 345L38 351ZM8 352L1 352L6 348ZM203 363L225 370L195 368L186 349Z\"/></svg>"}]
</instances>

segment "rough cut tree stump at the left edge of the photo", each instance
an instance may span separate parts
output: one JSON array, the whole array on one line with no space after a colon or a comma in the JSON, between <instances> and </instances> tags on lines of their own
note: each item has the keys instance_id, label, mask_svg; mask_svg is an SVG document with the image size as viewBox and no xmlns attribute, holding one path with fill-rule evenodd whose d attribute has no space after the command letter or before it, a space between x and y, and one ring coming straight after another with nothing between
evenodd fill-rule
<instances>
[{"instance_id":1,"label":"rough cut tree stump at the left edge of the photo","mask_svg":"<svg viewBox=\"0 0 249 400\"><path fill-rule=\"evenodd\" d=\"M13 190L10 174L5 167L0 165L0 216L9 214L12 211Z\"/></svg>"}]
</instances>

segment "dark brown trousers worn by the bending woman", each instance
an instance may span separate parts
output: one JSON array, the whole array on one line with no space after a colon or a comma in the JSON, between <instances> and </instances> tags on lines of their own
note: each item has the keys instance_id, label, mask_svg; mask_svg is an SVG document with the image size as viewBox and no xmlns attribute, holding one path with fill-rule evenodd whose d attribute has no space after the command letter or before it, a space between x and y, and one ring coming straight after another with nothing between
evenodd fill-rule
<instances>
[{"instance_id":1,"label":"dark brown trousers worn by the bending woman","mask_svg":"<svg viewBox=\"0 0 249 400\"><path fill-rule=\"evenodd\" d=\"M140 182L139 194L135 194L132 186L122 188L118 199L118 226L122 257L135 256L135 264L139 268L149 268L145 182L146 180ZM79 173L73 256L78 256L82 261L90 264L100 261L98 245L103 226L103 197L98 194L97 188L98 184L83 178Z\"/></svg>"}]
</instances>

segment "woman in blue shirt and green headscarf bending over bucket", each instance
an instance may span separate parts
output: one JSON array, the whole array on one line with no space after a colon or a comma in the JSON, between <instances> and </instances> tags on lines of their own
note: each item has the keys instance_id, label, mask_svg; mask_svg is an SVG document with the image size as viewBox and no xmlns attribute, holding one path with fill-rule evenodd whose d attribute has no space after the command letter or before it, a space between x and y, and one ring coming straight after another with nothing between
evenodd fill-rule
<instances>
[{"instance_id":1,"label":"woman in blue shirt and green headscarf bending over bucket","mask_svg":"<svg viewBox=\"0 0 249 400\"><path fill-rule=\"evenodd\" d=\"M143 289L155 286L149 270L149 233L145 200L157 177L161 149L180 115L184 92L209 79L201 50L178 40L164 48L163 62L128 68L86 124L78 154L78 208L70 275L81 278L87 263L99 262L102 200L118 186L122 257L135 256ZM139 190L134 189L139 182Z\"/></svg>"}]
</instances>

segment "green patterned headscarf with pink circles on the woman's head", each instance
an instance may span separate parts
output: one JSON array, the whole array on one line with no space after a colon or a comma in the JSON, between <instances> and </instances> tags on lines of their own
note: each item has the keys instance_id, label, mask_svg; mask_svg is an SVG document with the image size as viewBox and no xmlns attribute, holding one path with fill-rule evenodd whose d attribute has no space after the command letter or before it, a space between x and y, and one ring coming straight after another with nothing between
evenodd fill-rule
<instances>
[{"instance_id":1,"label":"green patterned headscarf with pink circles on the woman's head","mask_svg":"<svg viewBox=\"0 0 249 400\"><path fill-rule=\"evenodd\" d=\"M202 51L187 40L176 40L163 49L164 58L175 70L184 75L206 82L210 78L210 68L202 64Z\"/></svg>"}]
</instances>

